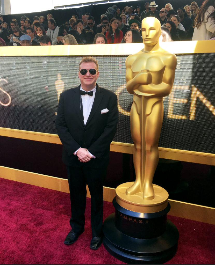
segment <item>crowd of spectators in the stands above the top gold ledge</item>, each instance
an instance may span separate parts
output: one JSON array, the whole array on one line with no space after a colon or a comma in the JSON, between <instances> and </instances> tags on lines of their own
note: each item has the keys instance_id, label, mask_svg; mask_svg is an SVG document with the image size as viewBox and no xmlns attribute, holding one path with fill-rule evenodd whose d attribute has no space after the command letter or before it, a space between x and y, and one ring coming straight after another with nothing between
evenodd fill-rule
<instances>
[{"instance_id":1,"label":"crowd of spectators in the stands above the top gold ledge","mask_svg":"<svg viewBox=\"0 0 215 265\"><path fill-rule=\"evenodd\" d=\"M22 16L20 23L9 23L0 16L0 46L77 45L143 42L141 21L156 17L161 24L161 41L209 40L215 37L215 1L205 0L199 7L194 1L174 10L171 3L159 7L146 2L143 7L116 5L100 16L96 25L90 13L80 18L72 15L63 25L57 25L52 14L34 16L33 21Z\"/></svg>"}]
</instances>

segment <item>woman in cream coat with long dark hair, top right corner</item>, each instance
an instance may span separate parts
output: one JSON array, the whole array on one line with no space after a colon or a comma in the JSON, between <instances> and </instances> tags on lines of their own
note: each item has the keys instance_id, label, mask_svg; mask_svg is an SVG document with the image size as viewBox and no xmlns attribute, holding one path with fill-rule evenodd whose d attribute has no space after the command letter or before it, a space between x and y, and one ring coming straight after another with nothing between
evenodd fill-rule
<instances>
[{"instance_id":1,"label":"woman in cream coat with long dark hair, top right corner","mask_svg":"<svg viewBox=\"0 0 215 265\"><path fill-rule=\"evenodd\" d=\"M208 40L215 31L215 2L206 0L194 20L192 41Z\"/></svg>"}]
</instances>

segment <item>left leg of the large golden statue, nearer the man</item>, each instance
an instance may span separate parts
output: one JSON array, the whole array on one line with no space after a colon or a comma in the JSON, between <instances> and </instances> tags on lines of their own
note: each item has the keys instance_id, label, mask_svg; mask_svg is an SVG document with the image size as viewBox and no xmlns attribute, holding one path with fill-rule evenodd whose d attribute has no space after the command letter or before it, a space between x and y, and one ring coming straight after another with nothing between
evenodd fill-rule
<instances>
[{"instance_id":1,"label":"left leg of the large golden statue, nearer the man","mask_svg":"<svg viewBox=\"0 0 215 265\"><path fill-rule=\"evenodd\" d=\"M134 96L135 97L135 96ZM138 98L137 98L138 100ZM133 101L130 112L130 127L131 127L131 136L134 141L133 149L133 162L136 180L134 184L126 189L127 195L133 195L140 192L141 188L141 132L140 132L140 114L138 113L137 104Z\"/></svg>"}]
</instances>

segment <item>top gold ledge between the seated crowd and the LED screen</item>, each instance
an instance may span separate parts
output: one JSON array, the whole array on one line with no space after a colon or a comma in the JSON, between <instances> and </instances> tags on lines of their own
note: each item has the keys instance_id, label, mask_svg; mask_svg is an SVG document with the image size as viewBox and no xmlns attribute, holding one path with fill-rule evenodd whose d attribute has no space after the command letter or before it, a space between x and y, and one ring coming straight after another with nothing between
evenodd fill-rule
<instances>
[{"instance_id":1,"label":"top gold ledge between the seated crowd and the LED screen","mask_svg":"<svg viewBox=\"0 0 215 265\"><path fill-rule=\"evenodd\" d=\"M104 46L105 45L105 46ZM0 56L86 56L86 55L130 55L144 48L143 43L120 43L104 45L54 45L1 47ZM160 46L174 54L214 52L213 41L161 42Z\"/></svg>"}]
</instances>

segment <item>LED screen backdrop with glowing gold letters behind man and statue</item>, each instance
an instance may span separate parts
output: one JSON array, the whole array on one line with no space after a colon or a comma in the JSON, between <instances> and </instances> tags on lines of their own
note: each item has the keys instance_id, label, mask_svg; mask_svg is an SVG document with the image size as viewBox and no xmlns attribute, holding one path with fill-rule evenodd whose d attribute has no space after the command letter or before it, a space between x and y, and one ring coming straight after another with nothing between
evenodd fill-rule
<instances>
[{"instance_id":1,"label":"LED screen backdrop with glowing gold letters behind man and statue","mask_svg":"<svg viewBox=\"0 0 215 265\"><path fill-rule=\"evenodd\" d=\"M119 122L113 141L133 143L126 91L128 55L94 56L97 83L118 96ZM82 56L1 57L0 127L56 134L58 96L78 86ZM215 153L215 54L177 55L172 93L164 98L160 147Z\"/></svg>"}]
</instances>

